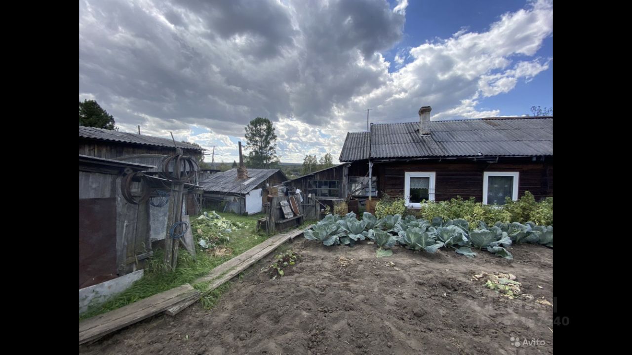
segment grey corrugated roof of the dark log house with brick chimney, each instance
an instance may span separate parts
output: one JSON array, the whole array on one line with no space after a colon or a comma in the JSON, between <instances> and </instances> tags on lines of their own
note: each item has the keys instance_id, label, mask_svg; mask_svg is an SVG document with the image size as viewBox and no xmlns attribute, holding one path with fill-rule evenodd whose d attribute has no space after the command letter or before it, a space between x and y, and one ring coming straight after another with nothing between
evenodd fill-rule
<instances>
[{"instance_id":1,"label":"grey corrugated roof of the dark log house with brick chimney","mask_svg":"<svg viewBox=\"0 0 632 355\"><path fill-rule=\"evenodd\" d=\"M340 161L368 158L368 132L348 133ZM419 123L372 124L370 155L404 157L553 155L553 117L496 117L430 121L430 135Z\"/></svg>"}]
</instances>

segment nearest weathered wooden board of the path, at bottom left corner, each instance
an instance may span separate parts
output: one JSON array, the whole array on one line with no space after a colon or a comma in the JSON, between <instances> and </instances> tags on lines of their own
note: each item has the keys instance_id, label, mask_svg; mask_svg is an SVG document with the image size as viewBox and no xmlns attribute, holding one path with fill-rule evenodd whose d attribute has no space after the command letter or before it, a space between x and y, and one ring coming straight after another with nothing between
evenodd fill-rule
<instances>
[{"instance_id":1,"label":"nearest weathered wooden board of the path, at bottom left corner","mask_svg":"<svg viewBox=\"0 0 632 355\"><path fill-rule=\"evenodd\" d=\"M79 323L79 344L99 339L103 335L166 311L174 304L199 297L199 291L193 289L190 284L185 284L95 316Z\"/></svg>"}]
</instances>

